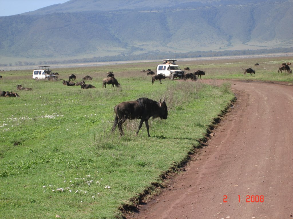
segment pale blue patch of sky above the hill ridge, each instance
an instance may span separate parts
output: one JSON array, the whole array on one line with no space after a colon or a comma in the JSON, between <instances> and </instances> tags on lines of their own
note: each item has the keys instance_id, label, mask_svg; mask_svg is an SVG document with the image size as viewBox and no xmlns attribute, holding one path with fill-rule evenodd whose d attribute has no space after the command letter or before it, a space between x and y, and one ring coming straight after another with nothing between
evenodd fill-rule
<instances>
[{"instance_id":1,"label":"pale blue patch of sky above the hill ridge","mask_svg":"<svg viewBox=\"0 0 293 219\"><path fill-rule=\"evenodd\" d=\"M0 0L0 16L35 11L39 8L64 3L66 1L69 0Z\"/></svg>"}]
</instances>

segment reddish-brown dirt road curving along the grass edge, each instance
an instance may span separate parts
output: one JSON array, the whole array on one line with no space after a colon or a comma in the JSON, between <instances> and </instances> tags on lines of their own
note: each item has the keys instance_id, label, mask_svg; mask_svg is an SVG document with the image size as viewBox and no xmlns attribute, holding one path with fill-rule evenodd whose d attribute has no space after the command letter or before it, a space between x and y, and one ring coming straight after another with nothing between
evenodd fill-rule
<instances>
[{"instance_id":1,"label":"reddish-brown dirt road curving along the grass edge","mask_svg":"<svg viewBox=\"0 0 293 219\"><path fill-rule=\"evenodd\" d=\"M231 84L237 101L207 147L131 218L293 218L293 86Z\"/></svg>"}]
</instances>

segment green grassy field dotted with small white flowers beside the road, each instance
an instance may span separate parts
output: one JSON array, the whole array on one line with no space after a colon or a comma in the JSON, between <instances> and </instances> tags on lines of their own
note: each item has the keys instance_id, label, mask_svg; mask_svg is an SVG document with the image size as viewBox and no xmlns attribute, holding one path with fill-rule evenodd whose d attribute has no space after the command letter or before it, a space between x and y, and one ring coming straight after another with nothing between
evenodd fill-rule
<instances>
[{"instance_id":1,"label":"green grassy field dotted with small white flowers beside the road","mask_svg":"<svg viewBox=\"0 0 293 219\"><path fill-rule=\"evenodd\" d=\"M292 80L276 73L281 59L258 60L256 74L244 77L241 68L254 62L210 60L180 66L205 70L205 79ZM140 70L155 70L156 64L53 69L60 74L58 81L36 82L32 70L1 72L0 91L20 97L0 98L0 217L120 217L119 208L162 183L161 174L185 161L234 95L230 84L217 86L215 81L165 79L162 85L151 85ZM120 88L102 88L108 71L114 72ZM76 81L93 77L86 83L96 89L62 85L70 74ZM17 84L33 91L16 91ZM112 133L114 106L140 97L165 98L168 119L149 120L151 138L145 125L135 136L139 120L123 124L125 136L117 129Z\"/></svg>"}]
</instances>

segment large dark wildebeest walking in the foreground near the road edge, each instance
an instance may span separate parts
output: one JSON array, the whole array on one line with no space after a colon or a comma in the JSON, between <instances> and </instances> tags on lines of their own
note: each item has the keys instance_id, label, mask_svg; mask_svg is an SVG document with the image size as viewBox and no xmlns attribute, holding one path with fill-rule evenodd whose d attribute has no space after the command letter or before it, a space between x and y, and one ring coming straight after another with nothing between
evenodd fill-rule
<instances>
[{"instance_id":1,"label":"large dark wildebeest walking in the foreground near the road edge","mask_svg":"<svg viewBox=\"0 0 293 219\"><path fill-rule=\"evenodd\" d=\"M161 98L162 99L162 98ZM138 135L139 129L142 127L143 122L147 126L147 135L149 135L149 118L153 117L153 119L159 117L161 119L167 119L168 117L168 108L165 102L159 102L155 100L151 100L149 98L139 98L136 101L127 101L119 103L114 107L114 112L116 114L112 131L115 131L115 128L118 124L118 128L120 131L120 135L124 135L122 124L127 119L140 119L140 123L138 126L138 130L136 131L136 135Z\"/></svg>"}]
</instances>

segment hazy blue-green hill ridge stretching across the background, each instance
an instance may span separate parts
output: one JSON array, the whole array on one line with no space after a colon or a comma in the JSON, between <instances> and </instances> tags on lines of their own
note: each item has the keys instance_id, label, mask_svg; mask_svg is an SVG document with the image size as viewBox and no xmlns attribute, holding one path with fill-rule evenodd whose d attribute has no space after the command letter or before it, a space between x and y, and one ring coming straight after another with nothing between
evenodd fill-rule
<instances>
[{"instance_id":1,"label":"hazy blue-green hill ridge stretching across the background","mask_svg":"<svg viewBox=\"0 0 293 219\"><path fill-rule=\"evenodd\" d=\"M71 0L0 17L0 63L1 56L50 60L290 48L292 8L292 0Z\"/></svg>"}]
</instances>

